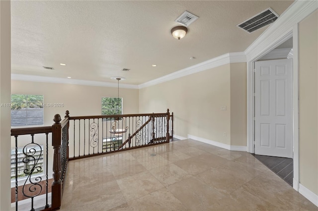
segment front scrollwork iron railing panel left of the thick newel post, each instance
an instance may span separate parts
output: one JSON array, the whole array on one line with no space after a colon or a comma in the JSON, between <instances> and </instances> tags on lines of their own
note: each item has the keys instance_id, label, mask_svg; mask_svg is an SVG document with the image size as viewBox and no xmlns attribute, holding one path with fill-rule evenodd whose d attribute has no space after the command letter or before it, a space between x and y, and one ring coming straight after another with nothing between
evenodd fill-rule
<instances>
[{"instance_id":1,"label":"front scrollwork iron railing panel left of the thick newel post","mask_svg":"<svg viewBox=\"0 0 318 211\"><path fill-rule=\"evenodd\" d=\"M34 210L34 199L35 197L45 194L45 204L41 207L44 209L49 208L48 203L48 141L49 133L52 133L52 126L48 127L33 127L33 128L12 128L11 136L14 136L15 142L15 156L14 162L11 165L15 165L15 210L18 210L18 196L20 199L30 199L29 210ZM44 140L35 141L35 136L45 134ZM24 135L31 135L28 137L27 144L19 147L18 137ZM42 137L43 138L43 137ZM24 138L25 139L25 138ZM25 140L23 140L25 142ZM20 149L20 150L18 150ZM40 159L45 160L45 165L39 165ZM23 163L19 166L19 163ZM45 171L44 171L45 170ZM44 175L40 175L39 173ZM19 187L18 178L22 176L23 185ZM44 182L43 182L44 181ZM18 190L21 191L19 194Z\"/></svg>"}]
</instances>

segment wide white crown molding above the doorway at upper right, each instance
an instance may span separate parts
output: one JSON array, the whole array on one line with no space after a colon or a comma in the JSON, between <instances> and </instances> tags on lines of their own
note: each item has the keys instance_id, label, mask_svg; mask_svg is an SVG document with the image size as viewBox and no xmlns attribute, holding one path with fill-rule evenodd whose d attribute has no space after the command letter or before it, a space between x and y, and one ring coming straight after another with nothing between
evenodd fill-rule
<instances>
[{"instance_id":1,"label":"wide white crown molding above the doorway at upper right","mask_svg":"<svg viewBox=\"0 0 318 211\"><path fill-rule=\"evenodd\" d=\"M318 8L318 1L296 0L283 14L268 27L247 49L244 51L247 61L256 59L256 55L263 53L270 46L273 50L279 45L279 41L292 32L295 24L310 15Z\"/></svg>"}]
</instances>

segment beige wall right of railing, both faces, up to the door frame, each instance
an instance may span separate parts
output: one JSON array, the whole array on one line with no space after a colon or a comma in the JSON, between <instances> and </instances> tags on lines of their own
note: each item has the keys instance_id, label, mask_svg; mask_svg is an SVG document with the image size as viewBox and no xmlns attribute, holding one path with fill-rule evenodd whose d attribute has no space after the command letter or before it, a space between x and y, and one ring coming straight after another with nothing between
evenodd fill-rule
<instances>
[{"instance_id":1,"label":"beige wall right of railing, both faces, up to the door frame","mask_svg":"<svg viewBox=\"0 0 318 211\"><path fill-rule=\"evenodd\" d=\"M139 96L140 112L174 111L175 135L246 146L245 63L226 64L146 87ZM221 106L227 110L222 111ZM239 128L231 127L236 123L241 124ZM232 132L237 136L233 140Z\"/></svg>"}]
</instances>

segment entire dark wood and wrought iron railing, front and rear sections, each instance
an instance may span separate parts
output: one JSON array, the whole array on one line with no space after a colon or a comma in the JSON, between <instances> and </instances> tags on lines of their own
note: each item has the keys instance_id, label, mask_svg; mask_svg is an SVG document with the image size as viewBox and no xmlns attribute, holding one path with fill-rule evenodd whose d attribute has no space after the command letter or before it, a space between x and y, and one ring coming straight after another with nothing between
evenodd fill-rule
<instances>
[{"instance_id":1,"label":"entire dark wood and wrought iron railing, front and rear sections","mask_svg":"<svg viewBox=\"0 0 318 211\"><path fill-rule=\"evenodd\" d=\"M19 210L19 196L31 201L28 208L24 206L23 210L60 209L68 161L71 159L167 143L173 138L173 112L170 114L169 109L166 113L107 116L72 117L69 114L67 110L63 120L56 114L52 126L11 129L15 141L15 155L11 165L15 165L13 177L16 211ZM31 139L19 140L22 135L30 135ZM52 155L49 154L49 135L52 135ZM52 157L53 182L50 184L48 161ZM39 165L39 160L44 160L43 165ZM19 166L19 163L25 165ZM19 172L23 172L23 185L19 185ZM45 195L45 203L40 200L40 204L35 205L35 199L40 195Z\"/></svg>"}]
</instances>

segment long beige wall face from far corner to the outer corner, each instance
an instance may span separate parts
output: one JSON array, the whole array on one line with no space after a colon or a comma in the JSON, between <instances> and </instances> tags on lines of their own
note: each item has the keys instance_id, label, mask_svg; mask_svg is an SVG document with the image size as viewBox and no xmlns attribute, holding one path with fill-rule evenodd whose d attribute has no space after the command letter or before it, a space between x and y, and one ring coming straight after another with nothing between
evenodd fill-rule
<instances>
[{"instance_id":1,"label":"long beige wall face from far corner to the outer corner","mask_svg":"<svg viewBox=\"0 0 318 211\"><path fill-rule=\"evenodd\" d=\"M230 144L230 64L143 88L139 97L140 112L174 112L175 135Z\"/></svg>"}]
</instances>

